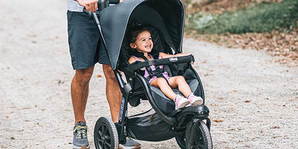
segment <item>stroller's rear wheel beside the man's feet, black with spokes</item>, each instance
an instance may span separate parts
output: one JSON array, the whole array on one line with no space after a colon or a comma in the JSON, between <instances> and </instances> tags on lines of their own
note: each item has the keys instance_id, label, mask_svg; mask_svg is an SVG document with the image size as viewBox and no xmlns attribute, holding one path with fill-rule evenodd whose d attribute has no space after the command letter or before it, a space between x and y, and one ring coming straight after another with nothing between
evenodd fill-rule
<instances>
[{"instance_id":1,"label":"stroller's rear wheel beside the man's feet, black with spokes","mask_svg":"<svg viewBox=\"0 0 298 149\"><path fill-rule=\"evenodd\" d=\"M96 149L118 149L118 133L113 121L100 117L94 127L94 143Z\"/></svg>"}]
</instances>

